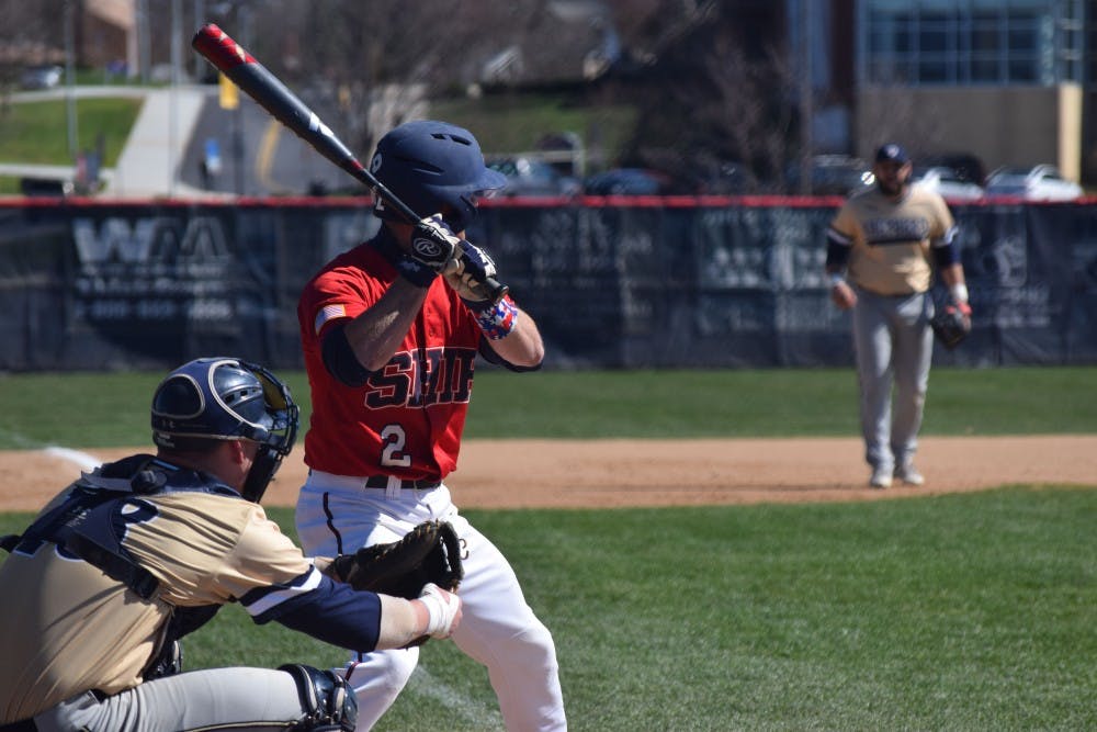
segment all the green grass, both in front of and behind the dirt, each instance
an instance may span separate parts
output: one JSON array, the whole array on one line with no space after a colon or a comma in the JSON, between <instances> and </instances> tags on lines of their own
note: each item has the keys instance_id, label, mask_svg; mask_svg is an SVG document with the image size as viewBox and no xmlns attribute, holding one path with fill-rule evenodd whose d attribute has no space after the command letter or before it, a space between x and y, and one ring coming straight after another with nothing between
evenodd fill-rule
<instances>
[{"instance_id":1,"label":"all the green grass, both in front of and behind the dirt","mask_svg":"<svg viewBox=\"0 0 1097 732\"><path fill-rule=\"evenodd\" d=\"M0 378L0 447L148 443L161 374ZM307 412L304 380L285 374ZM927 433L1097 432L1097 370L936 369ZM855 436L851 371L477 378L475 437ZM293 536L292 514L271 516ZM556 639L570 727L1097 729L1094 487L848 504L468 510ZM0 533L26 514L0 515ZM344 654L235 606L189 668ZM485 671L423 646L376 728L499 730Z\"/></svg>"}]
</instances>

